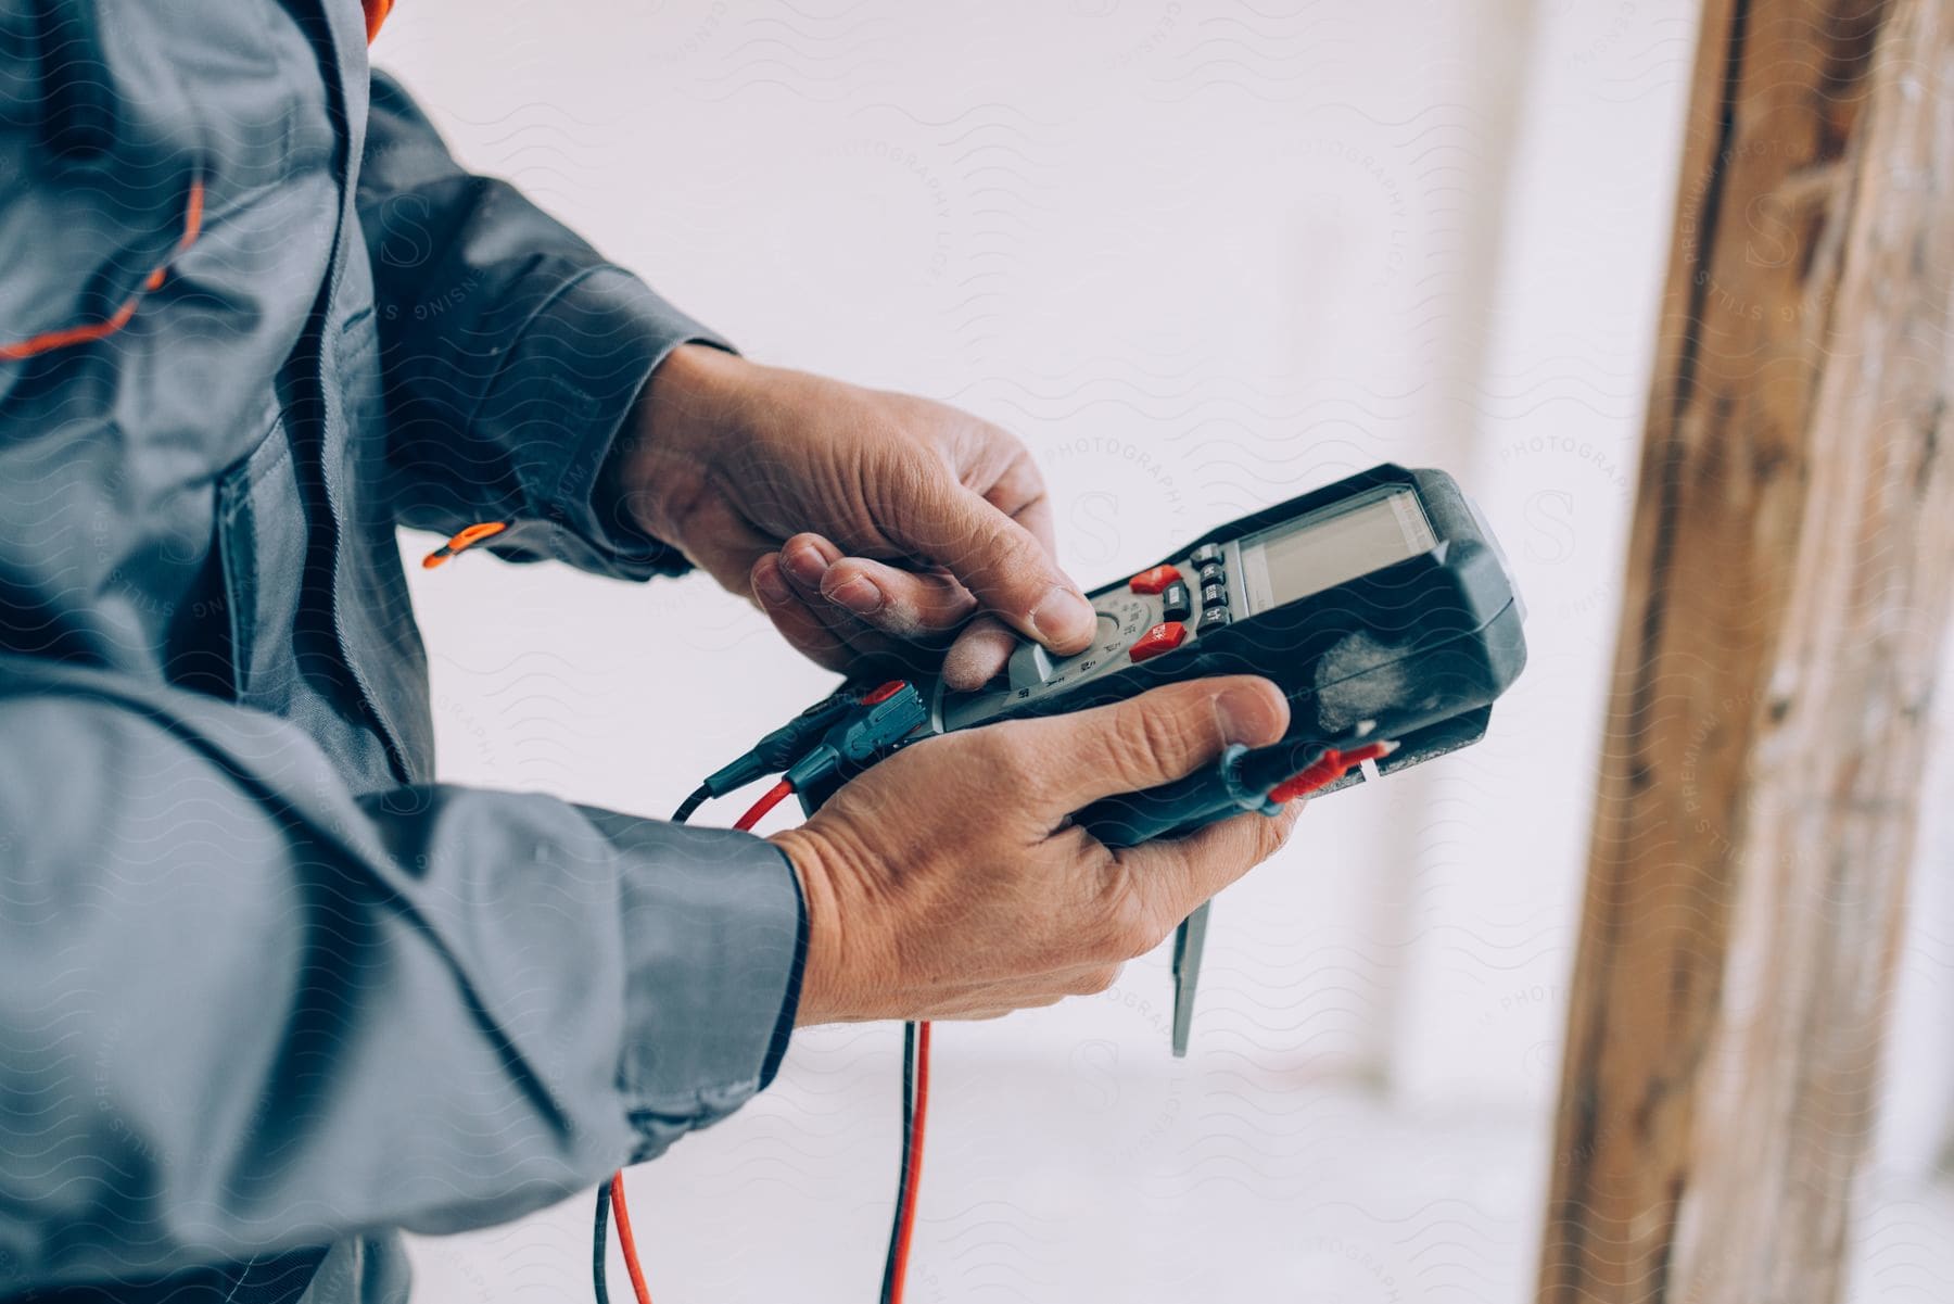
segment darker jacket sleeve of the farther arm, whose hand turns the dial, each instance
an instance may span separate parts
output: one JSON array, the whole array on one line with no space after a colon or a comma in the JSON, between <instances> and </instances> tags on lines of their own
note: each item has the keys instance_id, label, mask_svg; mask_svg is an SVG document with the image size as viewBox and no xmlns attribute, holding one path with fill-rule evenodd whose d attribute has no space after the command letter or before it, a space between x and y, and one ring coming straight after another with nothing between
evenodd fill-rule
<instances>
[{"instance_id":1,"label":"darker jacket sleeve of the farther arm, whose hand turns the dial","mask_svg":"<svg viewBox=\"0 0 1954 1304\"><path fill-rule=\"evenodd\" d=\"M508 182L463 172L381 72L358 199L403 524L508 522L488 547L510 559L682 571L676 547L623 516L604 471L664 356L727 344Z\"/></svg>"}]
</instances>

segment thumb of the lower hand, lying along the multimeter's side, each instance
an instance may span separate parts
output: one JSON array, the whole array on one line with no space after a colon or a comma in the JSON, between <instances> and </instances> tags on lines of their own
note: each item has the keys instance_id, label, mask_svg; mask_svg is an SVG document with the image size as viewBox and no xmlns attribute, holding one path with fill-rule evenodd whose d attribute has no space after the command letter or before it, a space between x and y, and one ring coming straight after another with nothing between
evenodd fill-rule
<instances>
[{"instance_id":1,"label":"thumb of the lower hand, lying along the multimeter's side","mask_svg":"<svg viewBox=\"0 0 1954 1304\"><path fill-rule=\"evenodd\" d=\"M1016 729L1038 757L1041 796L1075 811L1100 798L1192 774L1231 743L1274 743L1290 727L1290 702L1266 678L1217 674L1112 706L998 727Z\"/></svg>"}]
</instances>

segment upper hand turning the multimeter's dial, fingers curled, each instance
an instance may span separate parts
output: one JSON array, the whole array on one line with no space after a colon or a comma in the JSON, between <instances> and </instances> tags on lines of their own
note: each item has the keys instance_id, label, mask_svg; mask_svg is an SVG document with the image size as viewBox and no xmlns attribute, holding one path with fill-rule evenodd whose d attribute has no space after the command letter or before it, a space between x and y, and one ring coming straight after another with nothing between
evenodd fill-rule
<instances>
[{"instance_id":1,"label":"upper hand turning the multimeter's dial, fingers curled","mask_svg":"<svg viewBox=\"0 0 1954 1304\"><path fill-rule=\"evenodd\" d=\"M989 422L701 344L658 366L635 422L617 473L639 526L821 665L916 669L948 645L946 678L977 688L1006 624L1055 653L1092 641L1043 479Z\"/></svg>"}]
</instances>

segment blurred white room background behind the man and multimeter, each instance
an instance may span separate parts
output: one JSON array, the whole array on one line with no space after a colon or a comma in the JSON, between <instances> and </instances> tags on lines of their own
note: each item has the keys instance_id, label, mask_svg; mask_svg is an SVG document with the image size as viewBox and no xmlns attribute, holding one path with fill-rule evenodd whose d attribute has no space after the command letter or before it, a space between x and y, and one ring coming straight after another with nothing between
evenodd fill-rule
<instances>
[{"instance_id":1,"label":"blurred white room background behind the man and multimeter","mask_svg":"<svg viewBox=\"0 0 1954 1304\"><path fill-rule=\"evenodd\" d=\"M1491 735L1319 804L1223 897L1188 1062L1159 956L1106 997L940 1030L913 1298L1518 1298L1692 22L1680 0L389 22L377 61L469 164L752 356L1018 430L1086 585L1381 459L1454 469L1518 567L1532 667ZM825 690L698 579L410 573L451 780L664 813ZM1946 1013L1936 927L1915 1022ZM801 1034L772 1093L631 1175L660 1298L871 1292L897 1046ZM1909 1108L1901 1150L1944 1122ZM582 1298L586 1236L576 1202L424 1241L422 1296Z\"/></svg>"}]
</instances>

